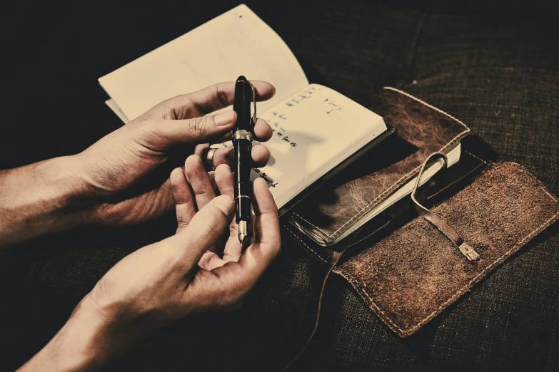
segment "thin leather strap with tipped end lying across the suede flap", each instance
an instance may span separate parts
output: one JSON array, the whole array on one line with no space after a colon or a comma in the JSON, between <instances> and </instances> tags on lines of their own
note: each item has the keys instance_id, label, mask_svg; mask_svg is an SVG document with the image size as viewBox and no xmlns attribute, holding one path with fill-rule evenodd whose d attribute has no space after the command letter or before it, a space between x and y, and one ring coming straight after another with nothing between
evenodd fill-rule
<instances>
[{"instance_id":1,"label":"thin leather strap with tipped end lying across the suede flap","mask_svg":"<svg viewBox=\"0 0 559 372\"><path fill-rule=\"evenodd\" d=\"M423 218L425 218L428 222L430 222L430 224L433 224L433 226L435 226L440 232L442 232L445 235L445 237L448 237L450 242L453 242L453 244L456 247L458 247L458 249L460 249L460 252L462 252L462 254L468 260L473 261L473 262L478 262L480 260L480 256L477 252L475 252L473 247L471 247L469 244L465 243L464 239L462 239L462 237L460 237L460 234L458 234L458 232L456 232L455 229L450 227L450 225L448 223L446 223L438 215L435 215L435 213L433 213L430 210L428 210L427 208L423 207L423 205L421 205L420 202L418 202L418 200L416 199L416 192L417 192L418 187L419 187L420 178L423 175L423 172L425 171L425 167L428 165L428 163L431 160L434 160L435 158L440 158L440 157L442 157L445 160L444 166L441 169L444 169L445 167L448 166L448 158L446 157L445 154L443 154L443 153L433 153L433 154L429 155L429 157L427 157L425 162L423 162L423 165L421 165L421 169L419 170L418 177L416 179L416 185L413 186L413 191L411 192L411 200L413 200L413 203L416 205L416 209L418 210L420 215L422 215Z\"/></svg>"}]
</instances>

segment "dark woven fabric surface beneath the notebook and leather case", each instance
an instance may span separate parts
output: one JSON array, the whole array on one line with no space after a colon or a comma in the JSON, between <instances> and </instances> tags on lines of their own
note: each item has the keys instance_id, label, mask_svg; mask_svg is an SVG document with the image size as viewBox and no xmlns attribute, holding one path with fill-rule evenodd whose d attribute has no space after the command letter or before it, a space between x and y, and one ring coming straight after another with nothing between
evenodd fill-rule
<instances>
[{"instance_id":1,"label":"dark woven fabric surface beneath the notebook and leather case","mask_svg":"<svg viewBox=\"0 0 559 372\"><path fill-rule=\"evenodd\" d=\"M371 2L248 2L278 31L310 81L367 105L396 85L468 125L559 194L558 53L553 23L428 16ZM14 3L3 50L0 166L83 150L118 128L96 78L236 4ZM532 17L533 18L533 17ZM169 217L81 229L0 253L0 369L13 370L64 324L104 272L173 231ZM558 371L558 224L400 339L333 276L321 325L293 371ZM274 371L310 333L323 268L286 239L240 311L177 324L113 371Z\"/></svg>"}]
</instances>

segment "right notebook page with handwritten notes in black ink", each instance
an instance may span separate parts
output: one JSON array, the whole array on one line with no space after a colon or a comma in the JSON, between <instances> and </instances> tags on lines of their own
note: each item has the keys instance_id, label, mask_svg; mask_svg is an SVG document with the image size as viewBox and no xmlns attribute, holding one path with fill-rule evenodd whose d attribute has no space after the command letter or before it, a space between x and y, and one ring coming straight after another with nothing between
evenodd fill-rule
<instances>
[{"instance_id":1,"label":"right notebook page with handwritten notes in black ink","mask_svg":"<svg viewBox=\"0 0 559 372\"><path fill-rule=\"evenodd\" d=\"M386 130L381 116L318 84L259 116L273 130L271 160L253 179L266 180L278 207Z\"/></svg>"}]
</instances>

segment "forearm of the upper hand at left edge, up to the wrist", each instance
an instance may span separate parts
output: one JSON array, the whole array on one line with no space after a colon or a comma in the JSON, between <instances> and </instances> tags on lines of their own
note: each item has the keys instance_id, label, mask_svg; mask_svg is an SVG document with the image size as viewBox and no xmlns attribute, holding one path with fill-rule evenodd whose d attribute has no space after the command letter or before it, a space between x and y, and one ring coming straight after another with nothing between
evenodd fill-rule
<instances>
[{"instance_id":1,"label":"forearm of the upper hand at left edge, up to the wrist","mask_svg":"<svg viewBox=\"0 0 559 372\"><path fill-rule=\"evenodd\" d=\"M85 195L77 157L0 171L0 247L82 224Z\"/></svg>"}]
</instances>

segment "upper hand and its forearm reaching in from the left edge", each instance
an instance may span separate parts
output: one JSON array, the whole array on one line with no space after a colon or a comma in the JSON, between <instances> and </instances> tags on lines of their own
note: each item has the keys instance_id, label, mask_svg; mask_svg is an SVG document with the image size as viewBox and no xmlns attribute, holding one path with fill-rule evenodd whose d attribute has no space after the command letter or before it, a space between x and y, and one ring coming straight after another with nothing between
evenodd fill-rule
<instances>
[{"instance_id":1,"label":"upper hand and its forearm reaching in from the left edge","mask_svg":"<svg viewBox=\"0 0 559 372\"><path fill-rule=\"evenodd\" d=\"M258 100L275 89L252 81ZM159 103L77 155L0 170L0 249L42 234L84 224L146 222L173 207L169 174L188 155L231 138L233 110L206 115L233 103L234 83L220 83ZM256 121L253 138L271 138ZM252 149L253 165L266 165L269 151ZM213 154L213 166L232 162L233 148ZM212 172L213 173L213 172Z\"/></svg>"}]
</instances>

